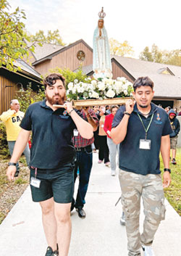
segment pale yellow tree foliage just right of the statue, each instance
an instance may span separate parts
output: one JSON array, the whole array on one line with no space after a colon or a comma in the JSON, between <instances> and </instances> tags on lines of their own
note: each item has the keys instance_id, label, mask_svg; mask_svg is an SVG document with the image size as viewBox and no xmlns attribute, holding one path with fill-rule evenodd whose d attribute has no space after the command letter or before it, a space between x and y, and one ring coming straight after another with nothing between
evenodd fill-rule
<instances>
[{"instance_id":1,"label":"pale yellow tree foliage just right of the statue","mask_svg":"<svg viewBox=\"0 0 181 256\"><path fill-rule=\"evenodd\" d=\"M114 38L109 39L110 52L113 55L119 56L132 56L134 53L132 46L128 43L128 41L124 41L123 43L119 43Z\"/></svg>"}]
</instances>

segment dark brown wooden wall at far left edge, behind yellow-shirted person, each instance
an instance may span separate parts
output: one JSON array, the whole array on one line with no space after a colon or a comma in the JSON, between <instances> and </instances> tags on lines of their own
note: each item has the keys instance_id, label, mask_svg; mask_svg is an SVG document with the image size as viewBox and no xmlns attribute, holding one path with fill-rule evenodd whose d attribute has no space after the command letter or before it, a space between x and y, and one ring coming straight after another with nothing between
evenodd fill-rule
<instances>
[{"instance_id":1,"label":"dark brown wooden wall at far left edge, behind yellow-shirted person","mask_svg":"<svg viewBox=\"0 0 181 256\"><path fill-rule=\"evenodd\" d=\"M0 115L9 110L9 103L14 99L15 91L17 91L16 83L0 75Z\"/></svg>"}]
</instances>

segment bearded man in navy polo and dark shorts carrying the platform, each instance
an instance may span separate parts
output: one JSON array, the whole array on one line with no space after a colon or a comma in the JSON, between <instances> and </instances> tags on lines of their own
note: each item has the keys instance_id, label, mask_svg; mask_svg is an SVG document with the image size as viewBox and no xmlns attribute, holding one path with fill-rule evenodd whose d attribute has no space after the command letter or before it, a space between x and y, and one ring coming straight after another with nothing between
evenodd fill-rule
<instances>
[{"instance_id":1,"label":"bearded man in navy polo and dark shorts carrying the platform","mask_svg":"<svg viewBox=\"0 0 181 256\"><path fill-rule=\"evenodd\" d=\"M77 128L81 136L91 139L93 128L72 108L72 102L64 103L66 91L62 75L48 75L43 83L46 99L28 107L20 124L22 129L8 164L7 177L9 181L14 179L16 162L32 131L30 188L33 201L41 205L43 228L49 245L46 256L67 256L74 188L73 131ZM64 104L65 110L54 107L54 104Z\"/></svg>"}]
</instances>

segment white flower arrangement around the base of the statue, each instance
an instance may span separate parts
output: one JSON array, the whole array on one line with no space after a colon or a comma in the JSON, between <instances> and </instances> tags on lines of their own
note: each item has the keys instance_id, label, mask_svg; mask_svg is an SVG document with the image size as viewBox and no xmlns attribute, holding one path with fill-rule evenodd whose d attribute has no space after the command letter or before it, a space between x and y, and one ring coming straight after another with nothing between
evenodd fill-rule
<instances>
[{"instance_id":1,"label":"white flower arrangement around the base of the statue","mask_svg":"<svg viewBox=\"0 0 181 256\"><path fill-rule=\"evenodd\" d=\"M90 80L89 83L70 82L67 86L67 99L112 99L116 97L132 96L132 83L126 78L117 80L103 78L101 80Z\"/></svg>"}]
</instances>

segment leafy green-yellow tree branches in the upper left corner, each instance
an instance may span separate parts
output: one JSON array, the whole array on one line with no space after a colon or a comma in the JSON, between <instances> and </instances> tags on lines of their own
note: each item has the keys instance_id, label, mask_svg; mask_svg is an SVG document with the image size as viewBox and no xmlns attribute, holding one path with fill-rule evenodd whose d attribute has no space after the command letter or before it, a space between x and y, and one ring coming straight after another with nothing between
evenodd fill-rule
<instances>
[{"instance_id":1,"label":"leafy green-yellow tree branches in the upper left corner","mask_svg":"<svg viewBox=\"0 0 181 256\"><path fill-rule=\"evenodd\" d=\"M22 20L26 19L25 12L19 7L10 12L10 8L7 0L0 0L0 67L4 65L9 70L17 71L20 67L15 66L16 59L29 54L23 39L30 41L30 38L24 33L25 24ZM29 50L34 51L33 44Z\"/></svg>"}]
</instances>

